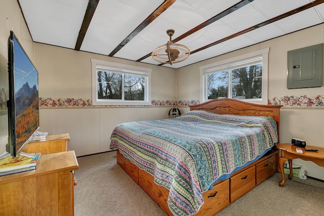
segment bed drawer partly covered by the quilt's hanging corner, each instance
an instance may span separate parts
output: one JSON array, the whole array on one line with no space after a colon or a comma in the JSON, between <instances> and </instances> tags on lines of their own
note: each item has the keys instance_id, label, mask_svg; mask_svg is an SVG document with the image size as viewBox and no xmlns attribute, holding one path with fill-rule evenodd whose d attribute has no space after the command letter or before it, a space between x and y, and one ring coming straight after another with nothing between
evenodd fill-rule
<instances>
[{"instance_id":1,"label":"bed drawer partly covered by the quilt's hanging corner","mask_svg":"<svg viewBox=\"0 0 324 216\"><path fill-rule=\"evenodd\" d=\"M204 208L197 215L215 215L229 205L229 180L218 182L203 193Z\"/></svg>"}]
</instances>

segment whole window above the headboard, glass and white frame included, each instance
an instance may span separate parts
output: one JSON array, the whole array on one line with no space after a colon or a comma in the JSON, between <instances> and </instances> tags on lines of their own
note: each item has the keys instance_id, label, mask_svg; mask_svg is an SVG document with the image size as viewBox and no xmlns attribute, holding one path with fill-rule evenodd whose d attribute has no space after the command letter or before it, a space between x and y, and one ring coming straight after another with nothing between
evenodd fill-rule
<instances>
[{"instance_id":1,"label":"whole window above the headboard, glass and white frame included","mask_svg":"<svg viewBox=\"0 0 324 216\"><path fill-rule=\"evenodd\" d=\"M233 98L268 103L269 48L200 67L201 101Z\"/></svg>"}]
</instances>

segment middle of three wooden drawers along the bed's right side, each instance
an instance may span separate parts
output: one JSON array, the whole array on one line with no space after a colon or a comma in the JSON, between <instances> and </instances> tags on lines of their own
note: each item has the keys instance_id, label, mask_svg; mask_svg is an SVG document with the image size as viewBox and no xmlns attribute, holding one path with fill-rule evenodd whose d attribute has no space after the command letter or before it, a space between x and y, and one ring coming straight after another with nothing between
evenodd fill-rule
<instances>
[{"instance_id":1,"label":"middle of three wooden drawers along the bed's right side","mask_svg":"<svg viewBox=\"0 0 324 216\"><path fill-rule=\"evenodd\" d=\"M255 166L230 177L230 202L234 202L255 186Z\"/></svg>"}]
</instances>

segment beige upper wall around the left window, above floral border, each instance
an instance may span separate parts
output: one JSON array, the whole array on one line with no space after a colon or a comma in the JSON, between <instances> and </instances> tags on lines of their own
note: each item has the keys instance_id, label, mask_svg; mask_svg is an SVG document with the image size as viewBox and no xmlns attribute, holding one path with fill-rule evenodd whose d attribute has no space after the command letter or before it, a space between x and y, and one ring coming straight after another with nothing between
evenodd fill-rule
<instances>
[{"instance_id":1,"label":"beige upper wall around the left window, above floral border","mask_svg":"<svg viewBox=\"0 0 324 216\"><path fill-rule=\"evenodd\" d=\"M99 59L152 69L152 100L175 100L176 73L165 68L128 61L99 54L75 51L34 43L35 67L39 74L39 97L82 98L92 97L91 59Z\"/></svg>"}]
</instances>

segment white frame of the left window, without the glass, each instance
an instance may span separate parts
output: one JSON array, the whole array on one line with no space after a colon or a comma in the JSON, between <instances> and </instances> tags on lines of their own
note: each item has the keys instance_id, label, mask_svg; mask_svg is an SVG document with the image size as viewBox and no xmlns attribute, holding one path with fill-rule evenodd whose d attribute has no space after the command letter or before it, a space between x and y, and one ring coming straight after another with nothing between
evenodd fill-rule
<instances>
[{"instance_id":1,"label":"white frame of the left window, without the glass","mask_svg":"<svg viewBox=\"0 0 324 216\"><path fill-rule=\"evenodd\" d=\"M91 59L92 63L92 105L97 106L138 106L138 105L151 105L151 68L138 67L133 65L121 64L116 62L109 62L98 59ZM131 75L141 75L145 77L145 96L144 101L130 101L124 100L122 97L119 99L98 99L98 86L97 86L97 70L109 70L109 72L121 73L121 74L131 74ZM124 77L124 76L122 76ZM123 83L122 79L122 85ZM125 92L121 93L122 95Z\"/></svg>"}]
</instances>

